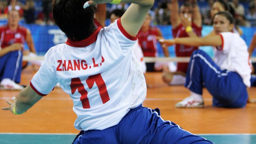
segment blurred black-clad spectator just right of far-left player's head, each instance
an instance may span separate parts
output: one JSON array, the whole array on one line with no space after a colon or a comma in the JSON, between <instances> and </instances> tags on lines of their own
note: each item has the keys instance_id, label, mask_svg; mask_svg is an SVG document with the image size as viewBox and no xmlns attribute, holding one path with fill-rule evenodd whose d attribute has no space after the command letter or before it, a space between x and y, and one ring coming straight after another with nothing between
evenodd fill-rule
<instances>
[{"instance_id":1,"label":"blurred black-clad spectator just right of far-left player's head","mask_svg":"<svg viewBox=\"0 0 256 144\"><path fill-rule=\"evenodd\" d=\"M24 18L26 23L35 22L35 2L33 0L27 0L24 9Z\"/></svg>"}]
</instances>

